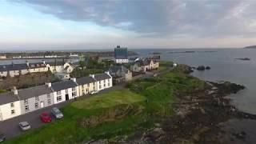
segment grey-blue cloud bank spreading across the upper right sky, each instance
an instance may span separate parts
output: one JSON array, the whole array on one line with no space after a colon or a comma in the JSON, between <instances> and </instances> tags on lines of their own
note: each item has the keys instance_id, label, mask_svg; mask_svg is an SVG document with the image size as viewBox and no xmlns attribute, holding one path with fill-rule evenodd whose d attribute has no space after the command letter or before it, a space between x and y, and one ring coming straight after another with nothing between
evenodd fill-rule
<instances>
[{"instance_id":1,"label":"grey-blue cloud bank spreading across the upper right sky","mask_svg":"<svg viewBox=\"0 0 256 144\"><path fill-rule=\"evenodd\" d=\"M256 1L240 0L23 0L63 20L95 22L143 37L253 37Z\"/></svg>"}]
</instances>

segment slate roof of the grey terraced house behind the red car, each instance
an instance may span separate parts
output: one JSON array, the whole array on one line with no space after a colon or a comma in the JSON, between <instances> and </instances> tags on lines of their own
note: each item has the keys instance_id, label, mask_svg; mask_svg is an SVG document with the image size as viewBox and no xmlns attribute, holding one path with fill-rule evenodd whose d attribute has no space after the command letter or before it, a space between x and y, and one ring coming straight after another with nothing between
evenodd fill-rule
<instances>
[{"instance_id":1,"label":"slate roof of the grey terraced house behind the red car","mask_svg":"<svg viewBox=\"0 0 256 144\"><path fill-rule=\"evenodd\" d=\"M52 90L48 86L35 86L27 89L18 90L18 96L22 99L37 97L42 94L50 94Z\"/></svg>"}]
</instances>

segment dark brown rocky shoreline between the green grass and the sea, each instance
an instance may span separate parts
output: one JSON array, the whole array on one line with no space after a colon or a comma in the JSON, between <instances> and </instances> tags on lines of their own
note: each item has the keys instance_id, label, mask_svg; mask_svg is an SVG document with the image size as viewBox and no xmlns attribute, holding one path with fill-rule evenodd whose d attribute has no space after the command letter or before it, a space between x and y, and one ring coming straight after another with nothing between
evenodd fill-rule
<instances>
[{"instance_id":1,"label":"dark brown rocky shoreline between the green grass and the sea","mask_svg":"<svg viewBox=\"0 0 256 144\"><path fill-rule=\"evenodd\" d=\"M183 69L188 74L190 68L186 67ZM88 143L227 143L221 140L226 133L222 130L223 122L234 118L256 119L256 115L237 110L226 98L243 89L245 86L231 82L206 82L204 90L178 94L178 102L170 103L174 116L163 118L150 130L138 131L132 136L118 136L115 140ZM246 132L234 133L233 136L245 139Z\"/></svg>"}]
</instances>

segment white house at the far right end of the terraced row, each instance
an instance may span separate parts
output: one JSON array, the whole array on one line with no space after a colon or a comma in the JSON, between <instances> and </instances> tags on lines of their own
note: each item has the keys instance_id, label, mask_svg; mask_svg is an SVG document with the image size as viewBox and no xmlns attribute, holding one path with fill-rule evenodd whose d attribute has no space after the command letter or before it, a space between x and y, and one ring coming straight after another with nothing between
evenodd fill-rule
<instances>
[{"instance_id":1,"label":"white house at the far right end of the terraced row","mask_svg":"<svg viewBox=\"0 0 256 144\"><path fill-rule=\"evenodd\" d=\"M109 72L103 74L90 74L90 77L96 80L97 90L104 90L112 87L112 77Z\"/></svg>"}]
</instances>

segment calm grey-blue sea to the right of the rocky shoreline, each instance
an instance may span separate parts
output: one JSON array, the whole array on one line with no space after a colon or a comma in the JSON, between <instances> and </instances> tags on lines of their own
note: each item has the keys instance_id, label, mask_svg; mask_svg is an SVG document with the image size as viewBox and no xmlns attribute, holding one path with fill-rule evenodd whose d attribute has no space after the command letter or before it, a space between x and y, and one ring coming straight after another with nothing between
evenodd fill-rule
<instances>
[{"instance_id":1,"label":"calm grey-blue sea to the right of the rocky shoreline","mask_svg":"<svg viewBox=\"0 0 256 144\"><path fill-rule=\"evenodd\" d=\"M194 53L173 53L184 51ZM192 75L208 81L230 81L246 86L238 94L230 95L239 110L256 114L256 50L249 49L179 49L135 50L141 55L160 52L162 60L171 60L190 66L210 66L211 70L197 71ZM242 61L234 58L250 58Z\"/></svg>"}]
</instances>

